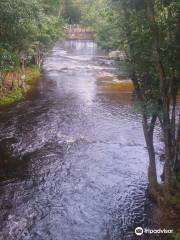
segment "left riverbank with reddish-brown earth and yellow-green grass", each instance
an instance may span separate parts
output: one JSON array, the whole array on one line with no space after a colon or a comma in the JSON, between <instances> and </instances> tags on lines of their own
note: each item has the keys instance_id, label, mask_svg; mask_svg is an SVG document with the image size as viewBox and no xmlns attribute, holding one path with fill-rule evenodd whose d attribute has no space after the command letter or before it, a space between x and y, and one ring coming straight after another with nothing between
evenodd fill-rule
<instances>
[{"instance_id":1,"label":"left riverbank with reddish-brown earth and yellow-green grass","mask_svg":"<svg viewBox=\"0 0 180 240\"><path fill-rule=\"evenodd\" d=\"M38 66L28 67L22 72L8 73L0 90L0 108L10 106L22 100L34 87L41 75Z\"/></svg>"}]
</instances>

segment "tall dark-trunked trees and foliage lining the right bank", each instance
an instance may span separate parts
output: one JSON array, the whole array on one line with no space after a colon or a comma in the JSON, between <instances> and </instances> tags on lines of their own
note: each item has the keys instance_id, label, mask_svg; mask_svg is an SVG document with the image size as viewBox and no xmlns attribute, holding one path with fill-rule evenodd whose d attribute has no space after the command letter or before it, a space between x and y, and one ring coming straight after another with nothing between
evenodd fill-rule
<instances>
[{"instance_id":1,"label":"tall dark-trunked trees and foliage lining the right bank","mask_svg":"<svg viewBox=\"0 0 180 240\"><path fill-rule=\"evenodd\" d=\"M112 0L106 3L103 14L104 5L92 11L93 18L95 12L100 13L95 18L99 24L95 27L99 43L102 47L126 53L149 154L149 190L155 199L163 195L169 201L180 188L180 112L177 105L180 4L178 0ZM163 133L166 156L161 185L157 182L153 141L157 121Z\"/></svg>"}]
</instances>

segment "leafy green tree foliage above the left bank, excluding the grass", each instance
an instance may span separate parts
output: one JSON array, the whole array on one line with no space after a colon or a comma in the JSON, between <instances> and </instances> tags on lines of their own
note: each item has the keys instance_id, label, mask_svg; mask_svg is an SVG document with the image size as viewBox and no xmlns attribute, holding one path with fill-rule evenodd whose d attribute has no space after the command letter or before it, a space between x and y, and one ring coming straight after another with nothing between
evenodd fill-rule
<instances>
[{"instance_id":1,"label":"leafy green tree foliage above the left bank, excluding the grass","mask_svg":"<svg viewBox=\"0 0 180 240\"><path fill-rule=\"evenodd\" d=\"M52 5L51 5L52 4ZM53 15L52 3L38 0L0 1L0 72L42 58L43 52L62 37L64 21ZM49 8L48 8L49 6Z\"/></svg>"}]
</instances>

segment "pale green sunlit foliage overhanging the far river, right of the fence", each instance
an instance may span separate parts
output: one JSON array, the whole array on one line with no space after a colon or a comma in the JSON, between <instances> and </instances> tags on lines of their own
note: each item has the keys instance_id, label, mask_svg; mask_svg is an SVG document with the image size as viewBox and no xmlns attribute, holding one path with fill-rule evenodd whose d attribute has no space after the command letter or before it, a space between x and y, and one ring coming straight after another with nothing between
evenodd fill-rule
<instances>
[{"instance_id":1,"label":"pale green sunlit foliage overhanging the far river, right of the fence","mask_svg":"<svg viewBox=\"0 0 180 240\"><path fill-rule=\"evenodd\" d=\"M102 48L116 50L120 47L119 13L112 9L110 0L93 0L86 4L81 23L94 28L96 40Z\"/></svg>"}]
</instances>

